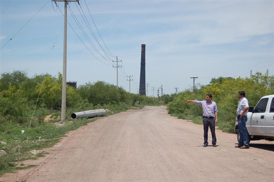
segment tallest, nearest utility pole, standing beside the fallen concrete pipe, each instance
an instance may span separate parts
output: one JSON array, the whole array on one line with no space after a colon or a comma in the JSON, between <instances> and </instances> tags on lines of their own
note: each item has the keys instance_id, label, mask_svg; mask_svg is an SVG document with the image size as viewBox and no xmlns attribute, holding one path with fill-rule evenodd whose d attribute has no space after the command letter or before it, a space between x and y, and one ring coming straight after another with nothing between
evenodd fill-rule
<instances>
[{"instance_id":1,"label":"tallest, nearest utility pole, standing beside the fallen concrete pipe","mask_svg":"<svg viewBox=\"0 0 274 182\"><path fill-rule=\"evenodd\" d=\"M65 2L64 8L64 49L63 49L63 82L62 82L62 105L61 105L61 120L66 120L66 85L67 85L67 4L68 2L78 2L79 0L54 0L56 2Z\"/></svg>"}]
</instances>

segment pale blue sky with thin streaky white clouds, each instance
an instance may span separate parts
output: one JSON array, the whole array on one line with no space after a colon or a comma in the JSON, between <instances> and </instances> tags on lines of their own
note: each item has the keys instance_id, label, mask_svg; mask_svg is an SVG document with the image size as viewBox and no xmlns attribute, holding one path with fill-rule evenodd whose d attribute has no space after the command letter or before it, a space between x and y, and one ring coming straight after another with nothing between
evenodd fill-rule
<instances>
[{"instance_id":1,"label":"pale blue sky with thin streaky white clouds","mask_svg":"<svg viewBox=\"0 0 274 182\"><path fill-rule=\"evenodd\" d=\"M0 0L0 73L63 72L64 2L57 5ZM131 83L137 93L141 44L148 96L161 85L164 94L192 89L190 77L199 87L274 75L274 0L80 0L68 4L67 22L67 81L77 86L116 85L118 57L119 87L129 92Z\"/></svg>"}]
</instances>

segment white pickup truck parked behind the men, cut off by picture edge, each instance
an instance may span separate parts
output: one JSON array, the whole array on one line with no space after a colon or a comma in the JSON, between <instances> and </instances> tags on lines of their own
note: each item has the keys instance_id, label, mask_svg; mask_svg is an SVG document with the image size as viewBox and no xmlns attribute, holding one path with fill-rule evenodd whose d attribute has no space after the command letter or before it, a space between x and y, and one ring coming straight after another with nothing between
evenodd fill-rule
<instances>
[{"instance_id":1,"label":"white pickup truck parked behind the men, cut off by picture edge","mask_svg":"<svg viewBox=\"0 0 274 182\"><path fill-rule=\"evenodd\" d=\"M260 99L255 108L249 107L246 122L250 140L274 141L274 95L267 95ZM234 132L239 142L238 122L235 123Z\"/></svg>"}]
</instances>

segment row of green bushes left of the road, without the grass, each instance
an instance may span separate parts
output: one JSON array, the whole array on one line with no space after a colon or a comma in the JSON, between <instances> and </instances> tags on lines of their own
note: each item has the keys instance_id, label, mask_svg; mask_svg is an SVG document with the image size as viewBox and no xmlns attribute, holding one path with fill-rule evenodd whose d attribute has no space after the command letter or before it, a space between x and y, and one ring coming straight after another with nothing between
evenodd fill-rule
<instances>
[{"instance_id":1,"label":"row of green bushes left of the road, without the grass","mask_svg":"<svg viewBox=\"0 0 274 182\"><path fill-rule=\"evenodd\" d=\"M79 112L97 108L125 110L141 105L157 105L156 98L126 92L125 89L103 82L86 83L79 88L69 85L66 94L68 111ZM39 95L40 93L40 95ZM37 100L39 95L39 99ZM62 75L49 74L28 77L23 71L0 75L0 123L27 123L34 111L34 118L41 121L44 116L60 112L62 100ZM114 108L116 107L116 108ZM67 112L66 117L69 117Z\"/></svg>"}]
</instances>

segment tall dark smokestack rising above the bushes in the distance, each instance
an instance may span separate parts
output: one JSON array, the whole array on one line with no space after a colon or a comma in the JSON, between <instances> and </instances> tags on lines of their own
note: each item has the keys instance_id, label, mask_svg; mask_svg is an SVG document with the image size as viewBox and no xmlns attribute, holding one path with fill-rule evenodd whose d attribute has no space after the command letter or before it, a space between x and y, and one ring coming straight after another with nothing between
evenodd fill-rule
<instances>
[{"instance_id":1,"label":"tall dark smokestack rising above the bushes in the distance","mask_svg":"<svg viewBox=\"0 0 274 182\"><path fill-rule=\"evenodd\" d=\"M141 49L141 71L140 71L139 94L145 95L145 44L142 44L142 49Z\"/></svg>"}]
</instances>

